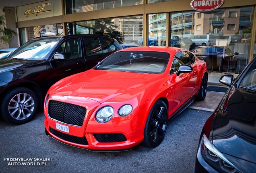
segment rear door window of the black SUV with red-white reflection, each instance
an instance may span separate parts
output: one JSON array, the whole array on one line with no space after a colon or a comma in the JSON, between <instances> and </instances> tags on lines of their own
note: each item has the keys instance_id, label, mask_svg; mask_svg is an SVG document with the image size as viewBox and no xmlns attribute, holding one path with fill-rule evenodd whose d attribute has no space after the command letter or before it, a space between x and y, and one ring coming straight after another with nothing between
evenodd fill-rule
<instances>
[{"instance_id":1,"label":"rear door window of the black SUV with red-white reflection","mask_svg":"<svg viewBox=\"0 0 256 173\"><path fill-rule=\"evenodd\" d=\"M85 52L87 56L103 54L99 38L83 38Z\"/></svg>"}]
</instances>

